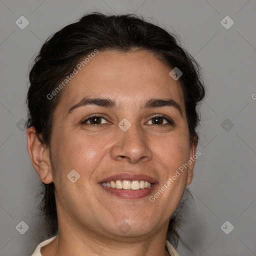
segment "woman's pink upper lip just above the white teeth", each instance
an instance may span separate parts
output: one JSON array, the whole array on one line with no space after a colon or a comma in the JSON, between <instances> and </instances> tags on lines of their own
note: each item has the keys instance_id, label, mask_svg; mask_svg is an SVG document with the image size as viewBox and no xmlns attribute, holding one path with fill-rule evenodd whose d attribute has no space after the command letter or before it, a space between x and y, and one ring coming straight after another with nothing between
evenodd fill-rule
<instances>
[{"instance_id":1,"label":"woman's pink upper lip just above the white teeth","mask_svg":"<svg viewBox=\"0 0 256 256\"><path fill-rule=\"evenodd\" d=\"M145 180L148 181L150 183L157 183L156 179L148 176L148 175L144 175L144 174L132 174L132 173L118 173L118 174L113 174L110 175L108 177L102 178L101 180L99 180L98 183L101 182L107 182L107 181L111 181L111 180Z\"/></svg>"}]
</instances>

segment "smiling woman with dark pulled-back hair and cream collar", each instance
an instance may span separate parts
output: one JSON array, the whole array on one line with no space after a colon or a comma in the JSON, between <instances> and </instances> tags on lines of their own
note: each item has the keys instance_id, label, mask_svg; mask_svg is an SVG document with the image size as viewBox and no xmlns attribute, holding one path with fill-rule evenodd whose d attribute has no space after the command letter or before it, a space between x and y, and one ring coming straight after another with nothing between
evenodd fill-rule
<instances>
[{"instance_id":1,"label":"smiling woman with dark pulled-back hair and cream collar","mask_svg":"<svg viewBox=\"0 0 256 256\"><path fill-rule=\"evenodd\" d=\"M91 13L29 74L27 149L52 233L33 255L178 255L197 156L199 66L162 28Z\"/></svg>"}]
</instances>

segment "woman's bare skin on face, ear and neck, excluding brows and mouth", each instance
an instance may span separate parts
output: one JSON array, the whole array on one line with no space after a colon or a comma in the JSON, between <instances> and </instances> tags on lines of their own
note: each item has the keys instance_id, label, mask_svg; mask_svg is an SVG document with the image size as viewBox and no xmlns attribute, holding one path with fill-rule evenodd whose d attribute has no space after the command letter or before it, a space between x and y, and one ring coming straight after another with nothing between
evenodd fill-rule
<instances>
[{"instance_id":1,"label":"woman's bare skin on face, ear and neck, excluding brows and mouth","mask_svg":"<svg viewBox=\"0 0 256 256\"><path fill-rule=\"evenodd\" d=\"M192 172L184 172L157 198L123 199L98 183L120 172L146 174L157 180L153 195L195 154L190 145L183 94L171 70L151 52L99 52L65 86L53 114L50 150L34 127L27 129L27 149L44 183L54 182L59 234L41 248L44 255L168 255L165 237ZM83 97L109 98L116 107L86 105L68 110ZM143 108L151 98L173 99L173 106ZM101 124L81 124L98 114ZM174 122L155 124L154 115ZM118 123L126 118L131 127ZM153 119L152 119L153 118ZM100 123L100 118L99 118ZM51 152L51 153L50 153ZM51 159L50 159L51 154ZM192 170L194 161L189 165ZM80 178L66 177L75 169ZM125 221L125 222L123 222ZM124 232L120 225L129 227Z\"/></svg>"}]
</instances>

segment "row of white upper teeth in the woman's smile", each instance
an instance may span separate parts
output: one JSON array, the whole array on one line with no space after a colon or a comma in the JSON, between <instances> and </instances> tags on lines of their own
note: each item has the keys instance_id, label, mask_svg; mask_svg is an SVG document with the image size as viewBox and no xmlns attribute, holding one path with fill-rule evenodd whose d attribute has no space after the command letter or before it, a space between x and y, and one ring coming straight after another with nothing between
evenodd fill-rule
<instances>
[{"instance_id":1,"label":"row of white upper teeth in the woman's smile","mask_svg":"<svg viewBox=\"0 0 256 256\"><path fill-rule=\"evenodd\" d=\"M111 187L111 188L117 188L117 189L132 189L132 190L138 190L139 188L148 188L152 184L145 180L111 180L108 182L102 182L103 186Z\"/></svg>"}]
</instances>

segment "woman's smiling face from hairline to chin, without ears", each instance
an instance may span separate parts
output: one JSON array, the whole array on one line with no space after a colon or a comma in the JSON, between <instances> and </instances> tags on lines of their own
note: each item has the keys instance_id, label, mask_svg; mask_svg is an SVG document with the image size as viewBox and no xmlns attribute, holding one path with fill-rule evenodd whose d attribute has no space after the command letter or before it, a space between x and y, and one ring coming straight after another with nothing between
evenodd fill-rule
<instances>
[{"instance_id":1,"label":"woman's smiling face from hairline to chin, without ears","mask_svg":"<svg viewBox=\"0 0 256 256\"><path fill-rule=\"evenodd\" d=\"M50 142L60 228L116 236L167 228L188 169L166 183L194 154L170 70L148 51L105 51L65 85ZM134 190L120 188L123 180ZM151 187L138 188L143 180Z\"/></svg>"}]
</instances>

